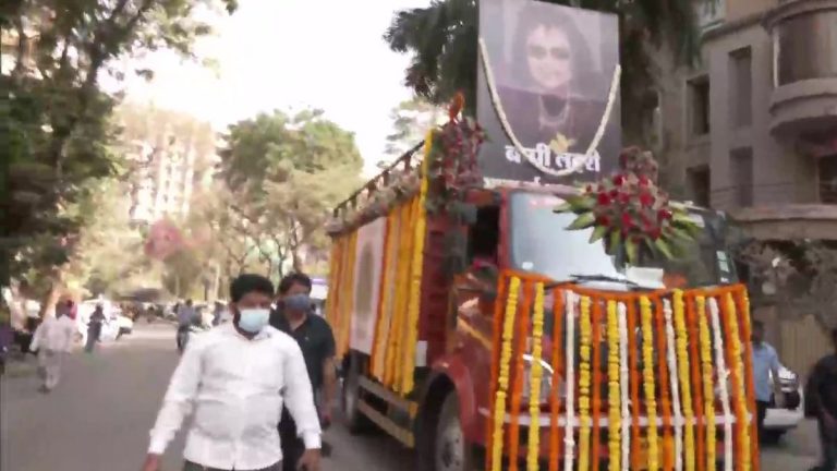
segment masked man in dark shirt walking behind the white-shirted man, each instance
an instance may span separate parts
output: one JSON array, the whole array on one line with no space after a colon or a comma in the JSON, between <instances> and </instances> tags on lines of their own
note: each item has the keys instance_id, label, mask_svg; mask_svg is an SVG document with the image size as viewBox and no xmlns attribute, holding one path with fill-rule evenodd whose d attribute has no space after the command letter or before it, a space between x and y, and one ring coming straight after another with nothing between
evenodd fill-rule
<instances>
[{"instance_id":1,"label":"masked man in dark shirt walking behind the white-shirted man","mask_svg":"<svg viewBox=\"0 0 837 471\"><path fill-rule=\"evenodd\" d=\"M270 314L270 325L293 337L302 349L308 370L311 386L318 398L323 427L331 423L331 406L337 390L335 365L335 336L326 319L312 314L311 278L301 273L286 276L279 282L277 309ZM294 470L294 463L305 451L304 444L296 436L296 425L287 411L282 411L279 423L284 470ZM325 444L324 452L326 451Z\"/></svg>"}]
</instances>

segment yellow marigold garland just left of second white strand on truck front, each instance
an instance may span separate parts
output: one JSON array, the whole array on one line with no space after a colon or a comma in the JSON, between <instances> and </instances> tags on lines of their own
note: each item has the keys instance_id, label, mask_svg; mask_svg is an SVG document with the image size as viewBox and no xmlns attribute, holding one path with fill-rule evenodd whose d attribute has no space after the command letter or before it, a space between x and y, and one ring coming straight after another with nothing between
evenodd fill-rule
<instances>
[{"instance_id":1,"label":"yellow marigold garland just left of second white strand on truck front","mask_svg":"<svg viewBox=\"0 0 837 471\"><path fill-rule=\"evenodd\" d=\"M621 464L622 404L619 385L619 318L616 301L607 301L607 404L609 428L607 433L609 470L619 471Z\"/></svg>"}]
</instances>

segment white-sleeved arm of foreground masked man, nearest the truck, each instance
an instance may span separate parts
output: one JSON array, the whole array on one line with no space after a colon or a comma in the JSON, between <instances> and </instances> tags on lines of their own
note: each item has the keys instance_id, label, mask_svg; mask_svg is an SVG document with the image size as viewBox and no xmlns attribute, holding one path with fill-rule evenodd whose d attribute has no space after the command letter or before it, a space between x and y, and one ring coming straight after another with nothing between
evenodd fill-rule
<instances>
[{"instance_id":1,"label":"white-sleeved arm of foreground masked man, nearest the truck","mask_svg":"<svg viewBox=\"0 0 837 471\"><path fill-rule=\"evenodd\" d=\"M302 350L295 341L288 342L284 359L284 402L296 423L296 434L305 443L305 454L296 463L319 471L319 449L323 446L319 416L314 406L314 389L305 367Z\"/></svg>"}]
</instances>

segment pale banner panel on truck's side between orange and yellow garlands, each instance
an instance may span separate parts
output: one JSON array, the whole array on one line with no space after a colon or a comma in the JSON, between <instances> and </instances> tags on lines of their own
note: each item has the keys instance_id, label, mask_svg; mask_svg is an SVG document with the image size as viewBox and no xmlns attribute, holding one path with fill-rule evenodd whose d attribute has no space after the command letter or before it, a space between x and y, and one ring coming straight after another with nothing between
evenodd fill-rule
<instances>
[{"instance_id":1,"label":"pale banner panel on truck's side between orange and yellow garlands","mask_svg":"<svg viewBox=\"0 0 837 471\"><path fill-rule=\"evenodd\" d=\"M349 346L351 349L366 354L372 354L375 340L386 229L386 218L378 218L357 229L354 306Z\"/></svg>"}]
</instances>

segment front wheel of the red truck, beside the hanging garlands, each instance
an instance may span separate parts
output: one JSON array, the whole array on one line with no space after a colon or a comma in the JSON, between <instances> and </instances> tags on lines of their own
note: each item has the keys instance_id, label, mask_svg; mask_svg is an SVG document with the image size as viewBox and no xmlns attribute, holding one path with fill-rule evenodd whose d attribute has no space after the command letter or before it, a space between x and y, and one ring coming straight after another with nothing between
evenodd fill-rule
<instances>
[{"instance_id":1,"label":"front wheel of the red truck, beside the hanging garlands","mask_svg":"<svg viewBox=\"0 0 837 471\"><path fill-rule=\"evenodd\" d=\"M435 471L475 471L471 445L462 432L459 398L451 391L439 412L434 448Z\"/></svg>"}]
</instances>

